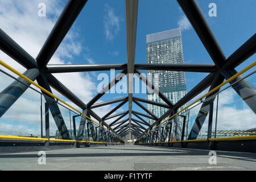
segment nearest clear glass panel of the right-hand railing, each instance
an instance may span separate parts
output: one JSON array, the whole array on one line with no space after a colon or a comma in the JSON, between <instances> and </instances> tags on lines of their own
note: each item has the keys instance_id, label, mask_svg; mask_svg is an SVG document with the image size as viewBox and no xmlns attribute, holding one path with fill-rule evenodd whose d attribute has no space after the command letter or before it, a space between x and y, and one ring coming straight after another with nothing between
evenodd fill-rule
<instances>
[{"instance_id":1,"label":"nearest clear glass panel of the right-hand railing","mask_svg":"<svg viewBox=\"0 0 256 182\"><path fill-rule=\"evenodd\" d=\"M246 78L255 85L255 74ZM236 84L239 87L241 82ZM246 90L247 89L247 90ZM241 94L248 94L250 88L241 90ZM243 99L250 102L251 97L242 95ZM238 137L256 134L256 117L249 105L232 88L219 93L216 137ZM253 105L252 103L250 103ZM254 104L255 106L255 104Z\"/></svg>"}]
</instances>

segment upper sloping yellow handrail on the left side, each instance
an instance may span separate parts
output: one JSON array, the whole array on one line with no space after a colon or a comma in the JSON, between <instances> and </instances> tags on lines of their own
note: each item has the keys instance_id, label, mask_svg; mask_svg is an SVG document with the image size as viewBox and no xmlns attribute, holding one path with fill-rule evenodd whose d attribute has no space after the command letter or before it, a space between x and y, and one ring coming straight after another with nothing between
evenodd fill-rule
<instances>
[{"instance_id":1,"label":"upper sloping yellow handrail on the left side","mask_svg":"<svg viewBox=\"0 0 256 182\"><path fill-rule=\"evenodd\" d=\"M67 104L65 101L61 100L60 98L58 98L57 96L53 95L51 92L49 92L48 90L44 89L42 86L36 84L34 81L30 80L30 78L27 78L26 76L22 75L22 73L16 71L14 68L11 68L9 65L7 65L6 63L4 63L3 61L0 60L0 64L9 69L11 72L15 73L16 75L18 75L19 77L22 77L24 80L30 82L32 85L35 85L37 88L39 88L40 90L42 90L43 92L49 94L50 96L56 98L57 100L59 100L60 102L62 102L63 104L71 107L73 110L77 111L78 113L84 115L84 117L86 117L87 119L89 119L90 121L96 123L98 126L101 126L103 129L105 129L104 126L100 125L99 123L97 123L96 121L93 121L93 119L89 118L87 115L81 113L79 110L75 109L74 107L72 107L71 105ZM112 133L110 130L105 129L107 131L109 131L110 133ZM112 133L113 135L117 136L116 134ZM117 136L118 137L118 136ZM119 137L118 137L119 138Z\"/></svg>"}]
</instances>

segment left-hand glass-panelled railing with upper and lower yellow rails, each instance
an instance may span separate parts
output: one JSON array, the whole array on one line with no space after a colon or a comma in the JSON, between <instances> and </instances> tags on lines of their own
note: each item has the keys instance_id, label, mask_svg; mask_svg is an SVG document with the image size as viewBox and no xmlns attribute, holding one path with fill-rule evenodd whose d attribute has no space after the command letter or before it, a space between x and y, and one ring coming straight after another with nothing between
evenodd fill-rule
<instances>
[{"instance_id":1,"label":"left-hand glass-panelled railing with upper and lower yellow rails","mask_svg":"<svg viewBox=\"0 0 256 182\"><path fill-rule=\"evenodd\" d=\"M121 143L123 143L122 139L119 138L118 135L116 135L112 131L106 129L104 126L100 125L99 123L97 123L96 121L94 121L93 119L91 119L90 117L85 115L84 113L81 113L81 111L77 110L75 107L67 104L67 102L61 100L59 97L55 96L51 92L48 92L48 90L44 89L42 86L36 84L34 81L32 81L29 78L27 78L26 76L22 75L21 73L16 71L14 68L11 68L9 65L3 63L3 61L1 61L1 60L0 60L0 64L3 67L7 68L9 71L15 73L15 75L18 75L19 77L23 78L30 84L36 86L36 88L39 88L43 92L43 93L41 93L41 92L39 92L39 90L32 88L30 85L24 84L23 82L19 81L17 78L11 76L9 73L0 69L0 71L3 74L5 74L6 76L8 76L16 81L19 81L23 85L26 85L27 88L30 88L34 92L40 94L40 120L41 120L41 134L40 134L41 137L40 138L37 138L35 136L33 137L32 135L31 135L31 137L17 137L17 136L0 135L0 139L21 139L21 140L42 140L42 141L48 140L48 141L52 141L52 142L83 142L83 143L104 143L104 144L121 144ZM49 98L49 100L51 100L51 103L46 101L45 105L43 105L42 96ZM55 98L56 101L49 96ZM69 120L69 123L66 123L66 124L70 125L70 130L69 130L69 134L71 135L70 139L61 139L61 137L58 137L60 135L59 135L59 131L57 129L56 129L56 134L55 134L54 138L52 138L52 136L50 137L50 135L49 135L49 119L52 119L52 118L49 118L48 110L49 110L49 107L54 107L53 104L57 104L59 107L61 107L62 111L64 113L66 113L67 118L68 118L68 114L69 114L69 119L67 119L67 120ZM46 133L45 133L45 136L43 136L43 125L42 125L42 123L43 123L43 107L46 111L46 119L45 119ZM71 118L73 118L73 119L71 119ZM79 120L79 119L80 119L80 121L82 121L82 119L84 119L85 123L84 123L84 129L82 129L82 131L81 131L82 135L80 134L80 136L77 136L77 134L78 134L77 130L79 130L79 129L77 128L76 123L77 123L77 120Z\"/></svg>"}]
</instances>

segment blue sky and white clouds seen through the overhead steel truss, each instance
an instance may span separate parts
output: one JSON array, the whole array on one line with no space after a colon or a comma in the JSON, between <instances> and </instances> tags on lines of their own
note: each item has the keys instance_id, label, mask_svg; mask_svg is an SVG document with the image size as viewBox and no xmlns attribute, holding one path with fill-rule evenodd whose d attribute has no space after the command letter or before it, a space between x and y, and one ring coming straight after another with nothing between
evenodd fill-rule
<instances>
[{"instance_id":1,"label":"blue sky and white clouds seen through the overhead steel truss","mask_svg":"<svg viewBox=\"0 0 256 182\"><path fill-rule=\"evenodd\" d=\"M38 3L47 7L46 17L38 17ZM255 0L198 0L201 10L212 28L225 56L230 56L238 47L255 34ZM217 17L210 17L209 3L216 3ZM0 0L0 28L22 48L36 57L63 10L67 0ZM138 28L135 63L146 63L146 35L181 27L184 63L213 63L196 32L184 19L183 11L174 0L141 0L138 6ZM181 24L180 24L181 22ZM18 71L24 68L0 51L1 60ZM253 63L256 56L241 64L237 71ZM126 61L125 1L88 1L71 30L52 57L50 64L114 64ZM143 72L143 71L142 71ZM87 103L97 94L99 73L63 73L55 76ZM118 71L116 71L118 73ZM185 73L187 91L200 82L207 73ZM255 84L255 83L254 83ZM60 96L53 90L57 96ZM100 101L126 97L127 94L105 94ZM146 98L146 94L134 94ZM71 104L70 102L68 102ZM115 105L97 110L103 116ZM146 106L146 104L145 104ZM127 104L122 110L127 110ZM133 109L141 110L133 104ZM121 110L119 110L121 111Z\"/></svg>"}]
</instances>

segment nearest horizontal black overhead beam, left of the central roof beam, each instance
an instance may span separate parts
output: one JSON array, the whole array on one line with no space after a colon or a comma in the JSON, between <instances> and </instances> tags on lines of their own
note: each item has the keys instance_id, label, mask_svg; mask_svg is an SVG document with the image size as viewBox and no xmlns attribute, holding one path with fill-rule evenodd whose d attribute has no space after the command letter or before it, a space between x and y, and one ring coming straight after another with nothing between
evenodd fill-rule
<instances>
[{"instance_id":1,"label":"nearest horizontal black overhead beam, left of the central roof beam","mask_svg":"<svg viewBox=\"0 0 256 182\"><path fill-rule=\"evenodd\" d=\"M94 72L109 71L110 69L124 70L127 64L48 64L48 73Z\"/></svg>"}]
</instances>

